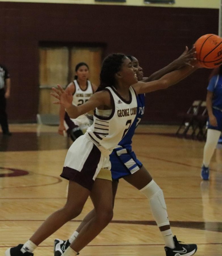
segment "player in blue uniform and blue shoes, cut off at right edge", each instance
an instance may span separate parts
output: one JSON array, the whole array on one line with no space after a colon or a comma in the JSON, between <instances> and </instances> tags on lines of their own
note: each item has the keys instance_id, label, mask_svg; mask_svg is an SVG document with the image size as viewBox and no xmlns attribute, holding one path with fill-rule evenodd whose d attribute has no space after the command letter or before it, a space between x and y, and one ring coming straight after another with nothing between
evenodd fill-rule
<instances>
[{"instance_id":1,"label":"player in blue uniform and blue shoes, cut off at right edge","mask_svg":"<svg viewBox=\"0 0 222 256\"><path fill-rule=\"evenodd\" d=\"M222 131L222 66L217 69L207 87L206 106L208 111L207 139L204 146L201 177L208 180L209 164Z\"/></svg>"}]
</instances>

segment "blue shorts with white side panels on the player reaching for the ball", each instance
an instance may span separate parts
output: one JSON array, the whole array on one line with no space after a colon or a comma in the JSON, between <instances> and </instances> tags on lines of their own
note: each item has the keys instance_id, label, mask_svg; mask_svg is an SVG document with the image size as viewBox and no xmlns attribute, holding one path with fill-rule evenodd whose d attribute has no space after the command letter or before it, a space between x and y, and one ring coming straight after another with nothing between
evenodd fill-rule
<instances>
[{"instance_id":1,"label":"blue shorts with white side panels on the player reaching for the ball","mask_svg":"<svg viewBox=\"0 0 222 256\"><path fill-rule=\"evenodd\" d=\"M137 172L143 164L137 159L135 153L130 148L115 148L110 154L111 174L113 180L131 175Z\"/></svg>"}]
</instances>

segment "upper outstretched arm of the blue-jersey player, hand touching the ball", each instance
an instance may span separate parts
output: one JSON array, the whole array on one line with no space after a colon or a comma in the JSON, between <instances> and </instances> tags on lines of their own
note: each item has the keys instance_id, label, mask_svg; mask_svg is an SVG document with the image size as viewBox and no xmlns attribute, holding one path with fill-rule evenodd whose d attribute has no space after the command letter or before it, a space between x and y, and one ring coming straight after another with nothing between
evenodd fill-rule
<instances>
[{"instance_id":1,"label":"upper outstretched arm of the blue-jersey player, hand touching the ball","mask_svg":"<svg viewBox=\"0 0 222 256\"><path fill-rule=\"evenodd\" d=\"M189 50L188 47L186 46L185 51L177 59L175 59L174 61L169 63L169 65L167 65L166 67L156 71L149 77L144 78L142 80L142 82L150 82L150 81L158 80L162 76L166 75L167 73L169 73L175 69L178 69L180 67L184 67L186 65L192 67L193 66L191 64L192 61L196 60L195 54L196 54L195 47L193 47L191 50Z\"/></svg>"}]
</instances>

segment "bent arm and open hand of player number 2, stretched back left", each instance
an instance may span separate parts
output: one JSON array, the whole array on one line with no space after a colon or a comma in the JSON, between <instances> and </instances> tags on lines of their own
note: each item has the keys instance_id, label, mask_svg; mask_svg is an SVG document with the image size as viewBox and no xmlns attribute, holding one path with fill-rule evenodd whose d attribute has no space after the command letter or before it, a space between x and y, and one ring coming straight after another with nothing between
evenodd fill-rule
<instances>
[{"instance_id":1,"label":"bent arm and open hand of player number 2, stretched back left","mask_svg":"<svg viewBox=\"0 0 222 256\"><path fill-rule=\"evenodd\" d=\"M58 99L58 101L53 103L61 104L66 109L66 112L70 118L75 119L78 116L83 115L90 110L94 110L99 106L107 106L110 109L112 108L110 94L105 90L93 94L86 103L79 106L74 106L72 105L73 96L69 90L65 92L60 85L58 85L58 88L53 87L52 89L54 93L51 92L50 94Z\"/></svg>"}]
</instances>

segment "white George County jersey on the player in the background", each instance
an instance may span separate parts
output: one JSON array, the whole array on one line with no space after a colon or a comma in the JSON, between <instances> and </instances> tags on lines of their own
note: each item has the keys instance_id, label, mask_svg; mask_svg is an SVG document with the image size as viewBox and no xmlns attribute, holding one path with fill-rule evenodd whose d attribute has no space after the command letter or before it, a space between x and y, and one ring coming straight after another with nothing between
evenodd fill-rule
<instances>
[{"instance_id":1,"label":"white George County jersey on the player in the background","mask_svg":"<svg viewBox=\"0 0 222 256\"><path fill-rule=\"evenodd\" d=\"M76 87L76 91L73 94L72 104L75 106L82 105L87 102L89 98L93 95L93 88L91 82L87 80L87 88L82 90L77 82L77 80L73 81ZM76 119L71 119L76 125L90 125L90 120L85 115L80 115Z\"/></svg>"}]
</instances>

